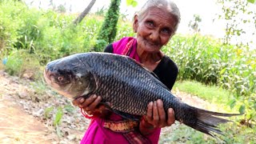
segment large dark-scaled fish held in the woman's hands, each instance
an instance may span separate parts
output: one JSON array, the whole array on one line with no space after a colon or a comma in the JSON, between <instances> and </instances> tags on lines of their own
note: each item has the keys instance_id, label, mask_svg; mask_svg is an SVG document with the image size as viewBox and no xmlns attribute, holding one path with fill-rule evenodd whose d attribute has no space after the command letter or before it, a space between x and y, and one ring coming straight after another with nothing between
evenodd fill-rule
<instances>
[{"instance_id":1,"label":"large dark-scaled fish held in the woman's hands","mask_svg":"<svg viewBox=\"0 0 256 144\"><path fill-rule=\"evenodd\" d=\"M49 62L46 82L68 98L102 96L102 103L124 118L146 114L149 102L162 99L164 109L173 108L175 119L203 133L222 134L216 126L230 122L222 114L189 106L170 93L149 70L132 58L108 53L74 54Z\"/></svg>"}]
</instances>

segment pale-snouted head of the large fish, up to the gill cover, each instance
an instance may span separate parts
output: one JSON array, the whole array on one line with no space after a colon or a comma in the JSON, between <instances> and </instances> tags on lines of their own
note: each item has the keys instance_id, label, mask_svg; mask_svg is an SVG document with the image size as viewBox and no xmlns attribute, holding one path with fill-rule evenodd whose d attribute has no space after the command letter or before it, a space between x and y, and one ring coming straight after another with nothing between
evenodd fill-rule
<instances>
[{"instance_id":1,"label":"pale-snouted head of the large fish, up to the gill cover","mask_svg":"<svg viewBox=\"0 0 256 144\"><path fill-rule=\"evenodd\" d=\"M74 54L49 62L44 70L46 83L67 98L78 98L95 88L90 68Z\"/></svg>"}]
</instances>

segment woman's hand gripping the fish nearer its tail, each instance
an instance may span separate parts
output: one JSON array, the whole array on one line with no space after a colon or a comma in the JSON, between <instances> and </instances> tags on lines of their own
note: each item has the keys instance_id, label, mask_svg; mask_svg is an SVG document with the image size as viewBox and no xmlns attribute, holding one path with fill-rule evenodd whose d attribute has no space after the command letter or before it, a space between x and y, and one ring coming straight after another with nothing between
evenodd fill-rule
<instances>
[{"instance_id":1,"label":"woman's hand gripping the fish nearer its tail","mask_svg":"<svg viewBox=\"0 0 256 144\"><path fill-rule=\"evenodd\" d=\"M147 106L147 113L140 122L140 131L142 134L150 134L156 127L162 128L174 124L174 110L169 108L167 113L168 118L166 118L162 100L158 99L157 101L150 102Z\"/></svg>"}]
</instances>

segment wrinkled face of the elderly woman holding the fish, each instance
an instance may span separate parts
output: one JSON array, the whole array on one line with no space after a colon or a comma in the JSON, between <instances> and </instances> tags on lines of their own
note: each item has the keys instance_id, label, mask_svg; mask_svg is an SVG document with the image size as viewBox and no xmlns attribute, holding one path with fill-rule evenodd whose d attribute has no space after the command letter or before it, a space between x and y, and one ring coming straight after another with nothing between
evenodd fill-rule
<instances>
[{"instance_id":1,"label":"wrinkled face of the elderly woman holding the fish","mask_svg":"<svg viewBox=\"0 0 256 144\"><path fill-rule=\"evenodd\" d=\"M165 9L151 7L141 18L134 17L138 49L158 52L174 34L176 19Z\"/></svg>"}]
</instances>

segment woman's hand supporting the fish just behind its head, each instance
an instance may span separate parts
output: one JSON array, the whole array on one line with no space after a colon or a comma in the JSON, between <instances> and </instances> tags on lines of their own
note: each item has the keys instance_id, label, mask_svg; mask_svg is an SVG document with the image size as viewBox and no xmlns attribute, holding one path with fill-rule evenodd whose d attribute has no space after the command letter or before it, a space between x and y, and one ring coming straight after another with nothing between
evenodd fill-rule
<instances>
[{"instance_id":1,"label":"woman's hand supporting the fish just behind its head","mask_svg":"<svg viewBox=\"0 0 256 144\"><path fill-rule=\"evenodd\" d=\"M100 96L97 96L95 94L90 95L89 98L77 98L72 101L74 106L79 106L86 112L86 114L92 115L95 111L99 111L102 109L98 108L99 102L102 101L102 98ZM105 106L104 106L105 107Z\"/></svg>"}]
</instances>

